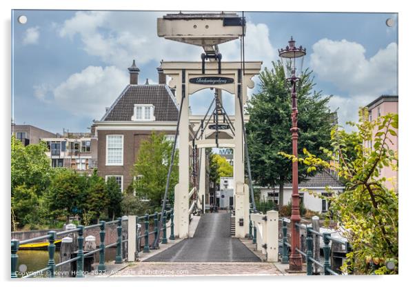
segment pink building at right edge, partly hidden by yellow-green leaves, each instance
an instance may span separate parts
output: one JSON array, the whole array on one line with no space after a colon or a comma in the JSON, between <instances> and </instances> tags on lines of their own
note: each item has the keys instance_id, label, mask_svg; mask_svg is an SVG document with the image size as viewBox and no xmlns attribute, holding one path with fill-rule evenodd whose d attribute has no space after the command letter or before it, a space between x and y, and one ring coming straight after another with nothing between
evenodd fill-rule
<instances>
[{"instance_id":1,"label":"pink building at right edge, partly hidden by yellow-green leaves","mask_svg":"<svg viewBox=\"0 0 415 287\"><path fill-rule=\"evenodd\" d=\"M398 113L398 96L383 95L378 97L372 103L369 103L366 108L369 110L369 119L371 121L376 120L378 117L387 115L388 113ZM396 130L396 133L398 130ZM390 136L392 144L389 143L389 148L398 151L398 135L396 137ZM365 143L367 148L372 148L372 141ZM386 177L391 179L387 181L387 188L394 188L398 192L398 171L392 170L389 166L385 166L381 169L379 177Z\"/></svg>"}]
</instances>

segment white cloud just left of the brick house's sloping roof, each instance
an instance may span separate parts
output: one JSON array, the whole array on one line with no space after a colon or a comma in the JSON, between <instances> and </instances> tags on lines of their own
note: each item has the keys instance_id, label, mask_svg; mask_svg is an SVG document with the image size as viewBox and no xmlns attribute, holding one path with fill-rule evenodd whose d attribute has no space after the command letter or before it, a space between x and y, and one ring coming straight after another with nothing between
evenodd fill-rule
<instances>
[{"instance_id":1,"label":"white cloud just left of the brick house's sloping roof","mask_svg":"<svg viewBox=\"0 0 415 287\"><path fill-rule=\"evenodd\" d=\"M53 101L75 116L101 119L126 83L127 74L114 66L88 66L54 88Z\"/></svg>"}]
</instances>

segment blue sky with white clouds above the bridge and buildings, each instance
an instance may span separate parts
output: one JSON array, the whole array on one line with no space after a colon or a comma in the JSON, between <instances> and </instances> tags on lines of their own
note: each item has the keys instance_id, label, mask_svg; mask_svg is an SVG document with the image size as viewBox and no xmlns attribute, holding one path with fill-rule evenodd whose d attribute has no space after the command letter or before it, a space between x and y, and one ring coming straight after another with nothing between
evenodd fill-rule
<instances>
[{"instance_id":1,"label":"blue sky with white clouds above the bridge and buildings","mask_svg":"<svg viewBox=\"0 0 415 287\"><path fill-rule=\"evenodd\" d=\"M12 119L51 132L88 132L129 83L135 59L139 83L157 82L165 61L200 61L202 48L157 37L156 19L167 12L12 11ZM239 12L242 15L241 12ZM19 23L25 15L27 22ZM332 95L339 123L356 121L358 107L381 95L398 95L398 16L392 13L245 12L245 60L270 68L278 49L294 37L307 48L304 68L317 91ZM388 27L387 19L394 25ZM239 41L219 46L223 61L239 61ZM259 90L254 77L252 96ZM190 97L204 115L213 95ZM234 96L223 95L231 115Z\"/></svg>"}]
</instances>

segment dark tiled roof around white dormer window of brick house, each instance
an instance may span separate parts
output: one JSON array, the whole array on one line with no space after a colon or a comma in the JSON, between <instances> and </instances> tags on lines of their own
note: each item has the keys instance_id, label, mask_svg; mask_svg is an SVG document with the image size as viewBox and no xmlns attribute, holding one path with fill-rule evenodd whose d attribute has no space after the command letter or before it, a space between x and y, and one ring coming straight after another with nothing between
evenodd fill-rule
<instances>
[{"instance_id":1,"label":"dark tiled roof around white dormer window of brick house","mask_svg":"<svg viewBox=\"0 0 415 287\"><path fill-rule=\"evenodd\" d=\"M156 121L177 121L179 110L167 85L128 85L101 121L131 121L134 104L152 104Z\"/></svg>"}]
</instances>

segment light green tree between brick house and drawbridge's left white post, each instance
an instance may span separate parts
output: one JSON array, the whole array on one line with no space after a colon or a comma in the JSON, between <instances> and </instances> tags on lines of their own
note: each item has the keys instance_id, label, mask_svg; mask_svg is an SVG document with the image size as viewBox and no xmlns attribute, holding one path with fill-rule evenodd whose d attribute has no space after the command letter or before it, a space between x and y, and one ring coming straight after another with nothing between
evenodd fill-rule
<instances>
[{"instance_id":1,"label":"light green tree between brick house and drawbridge's left white post","mask_svg":"<svg viewBox=\"0 0 415 287\"><path fill-rule=\"evenodd\" d=\"M132 174L138 178L134 183L136 195L139 199L150 199L152 206L160 206L163 199L172 148L173 143L162 133L152 132L147 140L141 142ZM169 198L174 194L174 186L179 181L178 162L179 155L176 151L170 175Z\"/></svg>"}]
</instances>

